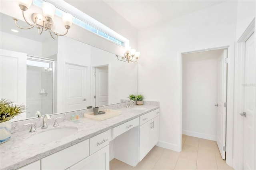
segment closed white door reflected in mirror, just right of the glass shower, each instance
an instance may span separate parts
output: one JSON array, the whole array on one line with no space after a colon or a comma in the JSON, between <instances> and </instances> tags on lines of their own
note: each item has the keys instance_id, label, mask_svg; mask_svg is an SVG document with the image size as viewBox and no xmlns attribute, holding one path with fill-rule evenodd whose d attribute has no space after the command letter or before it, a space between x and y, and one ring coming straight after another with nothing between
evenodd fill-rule
<instances>
[{"instance_id":1,"label":"closed white door reflected in mirror, just right of the glass shower","mask_svg":"<svg viewBox=\"0 0 256 170\"><path fill-rule=\"evenodd\" d=\"M86 67L65 64L64 110L86 108Z\"/></svg>"}]
</instances>

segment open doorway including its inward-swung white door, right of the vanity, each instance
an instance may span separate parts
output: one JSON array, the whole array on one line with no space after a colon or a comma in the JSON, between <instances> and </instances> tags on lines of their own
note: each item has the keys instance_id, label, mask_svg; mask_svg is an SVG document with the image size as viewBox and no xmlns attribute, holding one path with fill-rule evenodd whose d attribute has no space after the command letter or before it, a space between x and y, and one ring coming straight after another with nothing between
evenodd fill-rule
<instances>
[{"instance_id":1,"label":"open doorway including its inward-swung white door, right of the vanity","mask_svg":"<svg viewBox=\"0 0 256 170\"><path fill-rule=\"evenodd\" d=\"M216 141L222 159L226 158L227 51L182 54L182 134Z\"/></svg>"}]
</instances>

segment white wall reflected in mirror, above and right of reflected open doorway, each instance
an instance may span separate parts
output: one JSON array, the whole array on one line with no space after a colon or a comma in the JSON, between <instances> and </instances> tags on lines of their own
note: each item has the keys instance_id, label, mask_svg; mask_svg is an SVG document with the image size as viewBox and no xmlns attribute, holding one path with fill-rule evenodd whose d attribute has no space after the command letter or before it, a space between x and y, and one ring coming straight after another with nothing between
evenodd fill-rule
<instances>
[{"instance_id":1,"label":"white wall reflected in mirror, above and right of reflected open doorway","mask_svg":"<svg viewBox=\"0 0 256 170\"><path fill-rule=\"evenodd\" d=\"M116 59L116 55L101 49L91 48L91 66L109 65L108 103L120 103L130 94L137 93L138 64Z\"/></svg>"}]
</instances>

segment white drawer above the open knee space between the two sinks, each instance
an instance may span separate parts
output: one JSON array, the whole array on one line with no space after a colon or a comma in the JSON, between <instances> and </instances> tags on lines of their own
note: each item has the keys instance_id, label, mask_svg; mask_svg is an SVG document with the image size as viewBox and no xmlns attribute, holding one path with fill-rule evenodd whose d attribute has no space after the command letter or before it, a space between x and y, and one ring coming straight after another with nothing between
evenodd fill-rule
<instances>
[{"instance_id":1,"label":"white drawer above the open knee space between the two sinks","mask_svg":"<svg viewBox=\"0 0 256 170\"><path fill-rule=\"evenodd\" d=\"M133 127L136 127L139 125L139 118L137 117L136 119L132 119L129 122L126 122L122 125L119 125L118 127L113 128L113 138L116 136L119 136L120 134L126 132L127 130L130 130Z\"/></svg>"}]
</instances>

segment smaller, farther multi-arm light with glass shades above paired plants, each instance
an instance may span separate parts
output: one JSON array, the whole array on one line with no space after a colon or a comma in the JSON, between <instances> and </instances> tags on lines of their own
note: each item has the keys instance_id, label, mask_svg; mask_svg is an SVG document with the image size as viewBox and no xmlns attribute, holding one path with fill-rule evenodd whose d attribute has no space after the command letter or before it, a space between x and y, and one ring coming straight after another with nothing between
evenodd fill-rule
<instances>
[{"instance_id":1,"label":"smaller, farther multi-arm light with glass shades above paired plants","mask_svg":"<svg viewBox=\"0 0 256 170\"><path fill-rule=\"evenodd\" d=\"M140 57L140 52L136 51L136 49L131 49L131 47L126 47L124 57L120 55L116 55L117 59L120 61L128 62L131 61L133 63L138 61L138 58ZM121 58L120 58L121 57Z\"/></svg>"}]
</instances>

